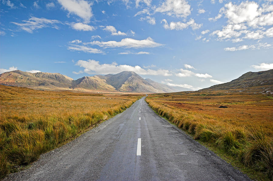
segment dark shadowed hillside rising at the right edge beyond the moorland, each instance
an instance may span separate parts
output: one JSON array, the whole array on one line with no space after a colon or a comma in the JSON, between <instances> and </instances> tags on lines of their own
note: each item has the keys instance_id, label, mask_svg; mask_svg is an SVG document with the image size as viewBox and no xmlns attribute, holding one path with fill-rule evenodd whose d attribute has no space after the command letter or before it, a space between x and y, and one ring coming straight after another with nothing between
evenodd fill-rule
<instances>
[{"instance_id":1,"label":"dark shadowed hillside rising at the right edge beyond the moorland","mask_svg":"<svg viewBox=\"0 0 273 181\"><path fill-rule=\"evenodd\" d=\"M273 86L273 69L260 72L248 72L231 82L218 84L201 90L244 89L256 86Z\"/></svg>"}]
</instances>

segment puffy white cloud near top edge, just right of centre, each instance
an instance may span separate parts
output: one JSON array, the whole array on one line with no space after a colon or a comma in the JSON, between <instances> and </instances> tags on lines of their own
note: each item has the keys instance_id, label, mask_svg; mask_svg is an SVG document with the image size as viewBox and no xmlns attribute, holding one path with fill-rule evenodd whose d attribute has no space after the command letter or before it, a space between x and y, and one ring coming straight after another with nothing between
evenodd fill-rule
<instances>
[{"instance_id":1,"label":"puffy white cloud near top edge, just right of centre","mask_svg":"<svg viewBox=\"0 0 273 181\"><path fill-rule=\"evenodd\" d=\"M186 0L165 0L165 2L155 9L155 12L186 18L190 15L190 5Z\"/></svg>"}]
</instances>

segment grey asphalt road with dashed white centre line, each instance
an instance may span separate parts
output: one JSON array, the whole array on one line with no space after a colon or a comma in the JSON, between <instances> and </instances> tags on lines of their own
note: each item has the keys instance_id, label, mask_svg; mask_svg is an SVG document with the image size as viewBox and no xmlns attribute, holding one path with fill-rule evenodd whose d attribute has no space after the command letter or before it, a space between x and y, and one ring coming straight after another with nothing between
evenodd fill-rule
<instances>
[{"instance_id":1,"label":"grey asphalt road with dashed white centre line","mask_svg":"<svg viewBox=\"0 0 273 181\"><path fill-rule=\"evenodd\" d=\"M144 97L4 180L250 180L160 118Z\"/></svg>"}]
</instances>

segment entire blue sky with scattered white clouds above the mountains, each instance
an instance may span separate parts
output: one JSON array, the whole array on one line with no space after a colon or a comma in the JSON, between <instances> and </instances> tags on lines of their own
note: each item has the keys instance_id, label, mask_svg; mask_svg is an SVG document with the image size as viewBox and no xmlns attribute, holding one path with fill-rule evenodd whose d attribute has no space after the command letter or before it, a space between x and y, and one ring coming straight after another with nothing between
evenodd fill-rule
<instances>
[{"instance_id":1,"label":"entire blue sky with scattered white clouds above the mountains","mask_svg":"<svg viewBox=\"0 0 273 181\"><path fill-rule=\"evenodd\" d=\"M0 73L135 71L197 90L273 69L273 1L0 1Z\"/></svg>"}]
</instances>

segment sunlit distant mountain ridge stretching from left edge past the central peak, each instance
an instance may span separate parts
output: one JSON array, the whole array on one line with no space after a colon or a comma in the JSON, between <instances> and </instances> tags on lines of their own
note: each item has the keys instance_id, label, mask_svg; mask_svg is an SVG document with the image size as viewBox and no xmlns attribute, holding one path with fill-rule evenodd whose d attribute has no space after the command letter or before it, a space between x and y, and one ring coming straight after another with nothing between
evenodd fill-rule
<instances>
[{"instance_id":1,"label":"sunlit distant mountain ridge stretching from left edge past the central peak","mask_svg":"<svg viewBox=\"0 0 273 181\"><path fill-rule=\"evenodd\" d=\"M110 92L178 92L179 89L143 79L135 72L123 71L105 76L84 76L73 80L60 73L29 73L20 70L0 74L0 83L9 86L28 87L42 90L81 90Z\"/></svg>"}]
</instances>

